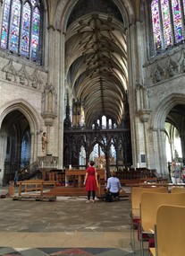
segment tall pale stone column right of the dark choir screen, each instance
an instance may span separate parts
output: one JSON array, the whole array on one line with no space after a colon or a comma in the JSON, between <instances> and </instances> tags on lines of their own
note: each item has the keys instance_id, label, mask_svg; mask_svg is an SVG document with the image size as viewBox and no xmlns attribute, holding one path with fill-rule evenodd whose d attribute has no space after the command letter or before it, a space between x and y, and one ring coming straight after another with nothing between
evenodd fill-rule
<instances>
[{"instance_id":1,"label":"tall pale stone column right of the dark choir screen","mask_svg":"<svg viewBox=\"0 0 185 256\"><path fill-rule=\"evenodd\" d=\"M130 129L133 165L140 163L140 154L147 152L147 91L144 83L145 63L144 30L142 22L135 22L128 28L128 98L130 103ZM144 48L145 49L145 48ZM147 166L146 166L147 167Z\"/></svg>"}]
</instances>

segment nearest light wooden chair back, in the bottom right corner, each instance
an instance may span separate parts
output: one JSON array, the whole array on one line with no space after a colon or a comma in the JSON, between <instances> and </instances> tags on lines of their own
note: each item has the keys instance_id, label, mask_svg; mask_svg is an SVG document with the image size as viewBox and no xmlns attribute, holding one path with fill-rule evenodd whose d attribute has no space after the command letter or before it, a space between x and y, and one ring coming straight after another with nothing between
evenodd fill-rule
<instances>
[{"instance_id":1,"label":"nearest light wooden chair back, in the bottom right corner","mask_svg":"<svg viewBox=\"0 0 185 256\"><path fill-rule=\"evenodd\" d=\"M168 217L166 217L168 216ZM156 213L153 256L184 256L185 207L161 205Z\"/></svg>"}]
</instances>

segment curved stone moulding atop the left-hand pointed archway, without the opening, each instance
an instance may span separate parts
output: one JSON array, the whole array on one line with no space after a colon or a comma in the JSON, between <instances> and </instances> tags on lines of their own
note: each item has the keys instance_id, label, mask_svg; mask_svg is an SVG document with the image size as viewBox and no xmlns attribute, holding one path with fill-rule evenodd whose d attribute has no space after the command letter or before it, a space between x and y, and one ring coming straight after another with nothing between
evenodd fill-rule
<instances>
[{"instance_id":1,"label":"curved stone moulding atop the left-hand pointed archway, without the opening","mask_svg":"<svg viewBox=\"0 0 185 256\"><path fill-rule=\"evenodd\" d=\"M20 110L26 119L28 119L31 133L39 133L42 130L42 121L37 111L34 110L28 102L21 99L17 99L13 102L7 102L4 107L0 109L0 127L2 126L4 117L13 110Z\"/></svg>"}]
</instances>

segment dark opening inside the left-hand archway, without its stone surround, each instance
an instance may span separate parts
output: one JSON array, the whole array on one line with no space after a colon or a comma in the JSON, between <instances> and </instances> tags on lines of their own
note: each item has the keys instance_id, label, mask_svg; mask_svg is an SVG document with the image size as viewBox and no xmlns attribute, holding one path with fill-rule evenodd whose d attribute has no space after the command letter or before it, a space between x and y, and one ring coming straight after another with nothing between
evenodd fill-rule
<instances>
[{"instance_id":1,"label":"dark opening inside the left-hand archway, without its stone surround","mask_svg":"<svg viewBox=\"0 0 185 256\"><path fill-rule=\"evenodd\" d=\"M13 181L15 173L30 161L30 128L28 119L19 110L8 113L2 122L1 143L4 145L3 184Z\"/></svg>"}]
</instances>

